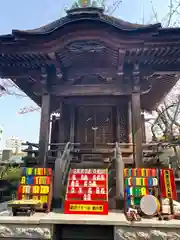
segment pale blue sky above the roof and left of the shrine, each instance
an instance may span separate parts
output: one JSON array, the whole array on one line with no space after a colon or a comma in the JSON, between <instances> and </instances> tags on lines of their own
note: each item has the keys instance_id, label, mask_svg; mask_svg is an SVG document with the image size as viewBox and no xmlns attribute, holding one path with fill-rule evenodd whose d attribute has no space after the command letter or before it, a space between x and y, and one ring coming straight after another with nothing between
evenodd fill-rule
<instances>
[{"instance_id":1,"label":"pale blue sky above the roof and left of the shrine","mask_svg":"<svg viewBox=\"0 0 180 240\"><path fill-rule=\"evenodd\" d=\"M110 6L113 0L107 1ZM64 9L74 1L69 0L6 0L1 1L0 34L11 33L12 29L32 29L45 25L63 16ZM168 0L155 0L159 19L167 12ZM152 19L150 0L123 0L113 13L114 16L131 22L149 22ZM112 10L112 9L111 9ZM40 113L18 115L26 106L33 106L29 98L2 96L0 98L0 126L3 128L3 143L10 136L22 140L38 141Z\"/></svg>"}]
</instances>

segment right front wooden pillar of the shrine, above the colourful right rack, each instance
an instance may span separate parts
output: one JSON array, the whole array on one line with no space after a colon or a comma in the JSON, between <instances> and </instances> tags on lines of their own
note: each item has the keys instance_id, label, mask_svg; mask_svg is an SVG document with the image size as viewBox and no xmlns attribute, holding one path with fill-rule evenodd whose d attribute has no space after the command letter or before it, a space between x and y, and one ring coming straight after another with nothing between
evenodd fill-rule
<instances>
[{"instance_id":1,"label":"right front wooden pillar of the shrine, above the colourful right rack","mask_svg":"<svg viewBox=\"0 0 180 240\"><path fill-rule=\"evenodd\" d=\"M132 131L133 131L133 152L135 167L143 166L142 149L142 124L141 124L141 94L140 94L140 72L139 66L135 64L133 71L132 91Z\"/></svg>"}]
</instances>

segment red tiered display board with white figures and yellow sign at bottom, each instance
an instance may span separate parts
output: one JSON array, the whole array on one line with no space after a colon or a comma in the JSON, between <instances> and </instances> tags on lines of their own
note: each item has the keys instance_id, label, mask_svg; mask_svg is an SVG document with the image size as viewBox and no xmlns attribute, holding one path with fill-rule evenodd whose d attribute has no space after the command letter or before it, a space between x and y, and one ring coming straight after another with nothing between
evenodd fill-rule
<instances>
[{"instance_id":1,"label":"red tiered display board with white figures and yellow sign at bottom","mask_svg":"<svg viewBox=\"0 0 180 240\"><path fill-rule=\"evenodd\" d=\"M71 169L64 213L108 214L108 170Z\"/></svg>"}]
</instances>

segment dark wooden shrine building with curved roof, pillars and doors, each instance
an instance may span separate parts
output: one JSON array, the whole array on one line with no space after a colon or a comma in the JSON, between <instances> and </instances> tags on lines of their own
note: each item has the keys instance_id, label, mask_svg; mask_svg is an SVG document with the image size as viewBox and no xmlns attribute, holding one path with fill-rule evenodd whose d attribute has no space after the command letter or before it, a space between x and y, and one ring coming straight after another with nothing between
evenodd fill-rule
<instances>
[{"instance_id":1,"label":"dark wooden shrine building with curved roof, pillars and doors","mask_svg":"<svg viewBox=\"0 0 180 240\"><path fill-rule=\"evenodd\" d=\"M103 154L116 142L134 143L133 158L124 154L124 161L142 165L142 112L159 104L179 73L180 29L125 22L95 2L75 4L46 26L0 36L0 77L41 106L40 165L49 139L51 149L71 142ZM54 112L60 118L50 127Z\"/></svg>"}]
</instances>

